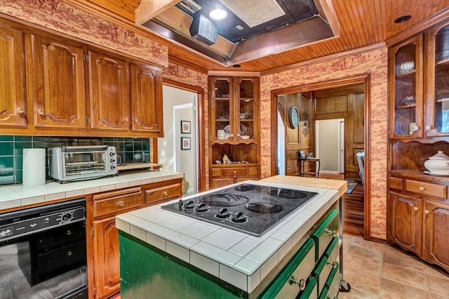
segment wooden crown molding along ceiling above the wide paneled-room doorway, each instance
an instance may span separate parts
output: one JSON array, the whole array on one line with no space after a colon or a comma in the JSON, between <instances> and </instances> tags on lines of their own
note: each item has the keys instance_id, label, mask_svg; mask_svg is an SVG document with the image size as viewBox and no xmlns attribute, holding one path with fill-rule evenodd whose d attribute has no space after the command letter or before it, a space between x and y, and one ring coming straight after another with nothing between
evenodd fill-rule
<instances>
[{"instance_id":1,"label":"wooden crown molding along ceiling above the wide paneled-room doorway","mask_svg":"<svg viewBox=\"0 0 449 299\"><path fill-rule=\"evenodd\" d=\"M370 46L364 46L361 48L356 48L356 49L352 49L352 50L345 51L345 52L335 53L333 55L328 55L328 56L324 56L324 57L320 57L320 58L316 58L316 59L312 59L312 60L297 62L297 63L294 63L293 65L286 65L284 67L276 67L274 69L268 69L267 71L261 72L260 74L262 76L267 76L269 74L286 72L290 69L296 69L298 67L304 67L306 65L316 65L317 63L322 63L322 62L334 60L337 58L349 57L349 56L353 56L353 55L359 54L359 53L371 52L371 51L375 51L377 49L381 49L381 48L385 48L385 47L386 46L385 46L384 42L377 43L377 44L373 44Z\"/></svg>"}]
</instances>

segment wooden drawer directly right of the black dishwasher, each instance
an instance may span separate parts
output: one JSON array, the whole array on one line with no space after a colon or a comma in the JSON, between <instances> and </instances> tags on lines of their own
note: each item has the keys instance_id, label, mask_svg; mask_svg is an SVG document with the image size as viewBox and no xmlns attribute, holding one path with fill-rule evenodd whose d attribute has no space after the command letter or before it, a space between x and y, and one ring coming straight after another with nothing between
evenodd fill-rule
<instances>
[{"instance_id":1,"label":"wooden drawer directly right of the black dishwasher","mask_svg":"<svg viewBox=\"0 0 449 299\"><path fill-rule=\"evenodd\" d=\"M93 217L126 211L142 206L140 187L104 192L93 196Z\"/></svg>"}]
</instances>

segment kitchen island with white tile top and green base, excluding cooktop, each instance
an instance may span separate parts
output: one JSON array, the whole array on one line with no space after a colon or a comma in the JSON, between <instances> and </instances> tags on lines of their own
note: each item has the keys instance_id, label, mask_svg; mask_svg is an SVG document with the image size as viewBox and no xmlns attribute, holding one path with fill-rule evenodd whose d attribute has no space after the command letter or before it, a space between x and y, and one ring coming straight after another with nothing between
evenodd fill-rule
<instances>
[{"instance_id":1,"label":"kitchen island with white tile top and green base, excluding cooktop","mask_svg":"<svg viewBox=\"0 0 449 299\"><path fill-rule=\"evenodd\" d=\"M337 273L342 245L339 199L347 182L278 175L232 187L243 184L317 195L261 236L164 210L166 204L117 215L121 297L337 295L342 279ZM227 188L192 195L184 202Z\"/></svg>"}]
</instances>

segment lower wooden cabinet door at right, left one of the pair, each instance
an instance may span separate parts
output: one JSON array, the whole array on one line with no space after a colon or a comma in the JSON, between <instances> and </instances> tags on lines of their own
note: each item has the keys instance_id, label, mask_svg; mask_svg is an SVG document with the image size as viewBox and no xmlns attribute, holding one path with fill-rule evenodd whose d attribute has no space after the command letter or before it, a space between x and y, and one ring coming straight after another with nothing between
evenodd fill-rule
<instances>
[{"instance_id":1,"label":"lower wooden cabinet door at right, left one of the pair","mask_svg":"<svg viewBox=\"0 0 449 299\"><path fill-rule=\"evenodd\" d=\"M421 254L422 199L390 192L391 239L402 248Z\"/></svg>"}]
</instances>

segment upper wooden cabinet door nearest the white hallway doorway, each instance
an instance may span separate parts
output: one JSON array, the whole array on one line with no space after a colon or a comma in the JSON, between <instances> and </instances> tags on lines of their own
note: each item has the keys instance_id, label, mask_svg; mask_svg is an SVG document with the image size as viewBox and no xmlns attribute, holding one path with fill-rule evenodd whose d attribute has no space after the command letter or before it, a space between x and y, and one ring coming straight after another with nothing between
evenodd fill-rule
<instances>
[{"instance_id":1,"label":"upper wooden cabinet door nearest the white hallway doorway","mask_svg":"<svg viewBox=\"0 0 449 299\"><path fill-rule=\"evenodd\" d=\"M162 74L159 69L130 65L133 131L163 137Z\"/></svg>"}]
</instances>

